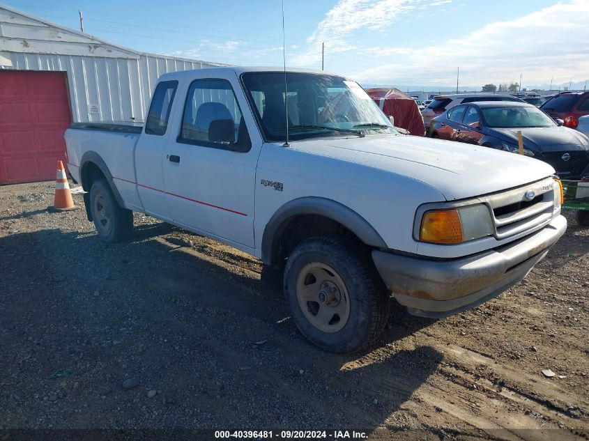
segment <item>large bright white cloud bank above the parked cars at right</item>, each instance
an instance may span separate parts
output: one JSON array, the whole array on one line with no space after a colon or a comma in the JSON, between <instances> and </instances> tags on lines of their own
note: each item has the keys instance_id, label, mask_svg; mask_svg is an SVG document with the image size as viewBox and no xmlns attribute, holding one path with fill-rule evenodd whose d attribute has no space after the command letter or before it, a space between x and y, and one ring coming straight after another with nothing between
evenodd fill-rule
<instances>
[{"instance_id":1,"label":"large bright white cloud bank above the parked cars at right","mask_svg":"<svg viewBox=\"0 0 589 441\"><path fill-rule=\"evenodd\" d=\"M406 54L392 48L395 62L347 73L361 82L451 85L459 65L464 85L519 81L520 73L523 86L546 83L551 77L555 84L571 76L581 79L589 72L589 49L582 43L589 40L588 20L588 1L557 3Z\"/></svg>"}]
</instances>

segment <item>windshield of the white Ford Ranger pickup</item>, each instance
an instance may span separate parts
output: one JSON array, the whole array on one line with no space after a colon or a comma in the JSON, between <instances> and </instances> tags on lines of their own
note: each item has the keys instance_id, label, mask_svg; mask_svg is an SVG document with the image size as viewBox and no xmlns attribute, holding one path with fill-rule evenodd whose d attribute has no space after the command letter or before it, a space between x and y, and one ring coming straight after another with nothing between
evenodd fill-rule
<instances>
[{"instance_id":1,"label":"windshield of the white Ford Ranger pickup","mask_svg":"<svg viewBox=\"0 0 589 441\"><path fill-rule=\"evenodd\" d=\"M242 75L246 95L268 141L286 139L284 73ZM342 77L286 73L289 139L397 133L357 83Z\"/></svg>"}]
</instances>

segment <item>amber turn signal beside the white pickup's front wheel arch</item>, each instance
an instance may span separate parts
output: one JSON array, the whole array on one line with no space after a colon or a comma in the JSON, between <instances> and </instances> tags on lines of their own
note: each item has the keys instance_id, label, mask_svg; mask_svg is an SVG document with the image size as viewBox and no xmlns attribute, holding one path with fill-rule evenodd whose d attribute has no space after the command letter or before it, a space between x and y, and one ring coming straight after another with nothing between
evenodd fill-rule
<instances>
[{"instance_id":1,"label":"amber turn signal beside the white pickup's front wheel arch","mask_svg":"<svg viewBox=\"0 0 589 441\"><path fill-rule=\"evenodd\" d=\"M453 244L462 242L462 224L457 210L430 210L421 221L420 240Z\"/></svg>"}]
</instances>

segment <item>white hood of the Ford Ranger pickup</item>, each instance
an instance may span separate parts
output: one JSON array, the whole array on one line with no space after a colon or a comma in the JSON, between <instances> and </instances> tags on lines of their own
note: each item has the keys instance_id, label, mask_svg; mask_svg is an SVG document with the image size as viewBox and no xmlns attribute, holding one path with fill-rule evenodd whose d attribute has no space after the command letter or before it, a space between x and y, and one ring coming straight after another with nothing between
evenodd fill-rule
<instances>
[{"instance_id":1,"label":"white hood of the Ford Ranger pickup","mask_svg":"<svg viewBox=\"0 0 589 441\"><path fill-rule=\"evenodd\" d=\"M290 148L420 180L448 201L498 192L555 173L549 164L523 155L406 135L309 139L292 142Z\"/></svg>"}]
</instances>

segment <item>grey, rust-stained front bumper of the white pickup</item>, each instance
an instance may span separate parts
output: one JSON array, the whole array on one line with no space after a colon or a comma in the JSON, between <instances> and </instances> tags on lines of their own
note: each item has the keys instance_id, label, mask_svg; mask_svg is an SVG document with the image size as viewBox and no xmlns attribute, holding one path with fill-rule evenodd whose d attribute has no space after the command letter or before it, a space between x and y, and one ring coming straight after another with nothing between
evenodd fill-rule
<instances>
[{"instance_id":1,"label":"grey, rust-stained front bumper of the white pickup","mask_svg":"<svg viewBox=\"0 0 589 441\"><path fill-rule=\"evenodd\" d=\"M558 216L525 238L472 256L430 261L373 251L372 259L410 314L442 318L477 307L517 284L566 229L567 219Z\"/></svg>"}]
</instances>

